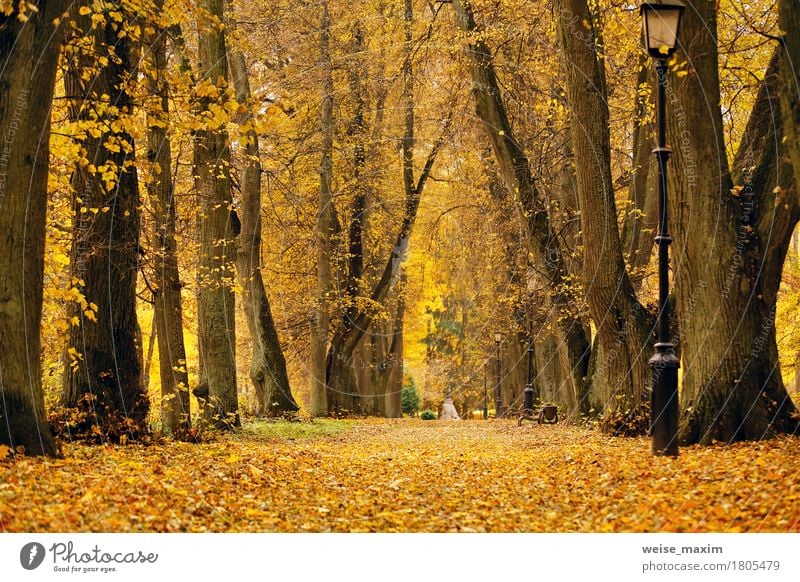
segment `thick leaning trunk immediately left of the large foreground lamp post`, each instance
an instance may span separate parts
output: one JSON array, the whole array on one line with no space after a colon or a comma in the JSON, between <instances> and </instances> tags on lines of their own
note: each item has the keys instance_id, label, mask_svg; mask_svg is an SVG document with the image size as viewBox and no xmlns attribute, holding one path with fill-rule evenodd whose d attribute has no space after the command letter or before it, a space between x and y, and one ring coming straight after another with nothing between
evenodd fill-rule
<instances>
[{"instance_id":1,"label":"thick leaning trunk immediately left of the large foreground lamp post","mask_svg":"<svg viewBox=\"0 0 800 582\"><path fill-rule=\"evenodd\" d=\"M588 249L583 257L583 285L602 354L593 382L611 387L603 428L639 434L648 426L644 405L652 378L648 359L653 322L636 298L622 256L596 23L586 0L556 0L554 11L571 111L577 192L583 209L581 230ZM580 23L580 36L576 23Z\"/></svg>"}]
</instances>

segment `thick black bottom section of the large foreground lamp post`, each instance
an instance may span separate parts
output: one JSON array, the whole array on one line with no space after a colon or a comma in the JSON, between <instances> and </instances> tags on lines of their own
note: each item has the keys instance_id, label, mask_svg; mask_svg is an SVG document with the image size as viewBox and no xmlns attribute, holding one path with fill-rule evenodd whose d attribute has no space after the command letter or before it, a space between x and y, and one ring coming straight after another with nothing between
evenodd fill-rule
<instances>
[{"instance_id":1,"label":"thick black bottom section of the large foreground lamp post","mask_svg":"<svg viewBox=\"0 0 800 582\"><path fill-rule=\"evenodd\" d=\"M657 343L650 358L653 389L650 394L650 435L653 454L678 456L678 368L680 360L671 343Z\"/></svg>"}]
</instances>

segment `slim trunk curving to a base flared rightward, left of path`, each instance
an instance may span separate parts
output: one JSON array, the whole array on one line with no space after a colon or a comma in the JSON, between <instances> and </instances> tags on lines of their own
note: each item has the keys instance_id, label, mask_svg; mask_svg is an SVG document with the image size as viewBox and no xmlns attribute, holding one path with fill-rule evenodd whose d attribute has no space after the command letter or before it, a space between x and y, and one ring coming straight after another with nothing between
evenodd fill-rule
<instances>
[{"instance_id":1,"label":"slim trunk curving to a base flared rightward, left of path","mask_svg":"<svg viewBox=\"0 0 800 582\"><path fill-rule=\"evenodd\" d=\"M253 126L254 107L244 54L228 55L236 100L247 108L239 119L244 134L242 162L242 232L239 235L237 270L242 282L243 309L253 339L250 380L256 393L257 414L279 416L299 409L289 387L286 359L272 319L261 274L261 160L258 134Z\"/></svg>"}]
</instances>

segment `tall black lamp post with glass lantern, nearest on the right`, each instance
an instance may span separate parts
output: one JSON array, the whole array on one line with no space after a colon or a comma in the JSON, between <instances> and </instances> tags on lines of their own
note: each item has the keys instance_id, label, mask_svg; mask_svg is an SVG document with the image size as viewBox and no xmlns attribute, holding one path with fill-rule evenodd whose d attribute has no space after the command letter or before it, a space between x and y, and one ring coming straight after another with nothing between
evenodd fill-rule
<instances>
[{"instance_id":1,"label":"tall black lamp post with glass lantern, nearest on the right","mask_svg":"<svg viewBox=\"0 0 800 582\"><path fill-rule=\"evenodd\" d=\"M678 455L678 368L669 329L669 245L667 228L667 161L672 153L666 141L667 58L675 51L678 27L685 6L677 0L651 0L640 8L644 44L656 59L658 79L658 143L653 153L658 162L658 340L650 358L653 391L650 399L654 455Z\"/></svg>"}]
</instances>

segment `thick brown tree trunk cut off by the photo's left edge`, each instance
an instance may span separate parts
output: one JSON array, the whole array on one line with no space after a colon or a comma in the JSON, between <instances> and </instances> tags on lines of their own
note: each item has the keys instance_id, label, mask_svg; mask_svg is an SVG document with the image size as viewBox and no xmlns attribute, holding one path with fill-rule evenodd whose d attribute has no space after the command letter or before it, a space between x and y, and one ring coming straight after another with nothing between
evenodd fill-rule
<instances>
[{"instance_id":1,"label":"thick brown tree trunk cut off by the photo's left edge","mask_svg":"<svg viewBox=\"0 0 800 582\"><path fill-rule=\"evenodd\" d=\"M45 420L41 316L50 105L66 2L0 16L0 444L57 454ZM20 5L24 6L24 5Z\"/></svg>"}]
</instances>

